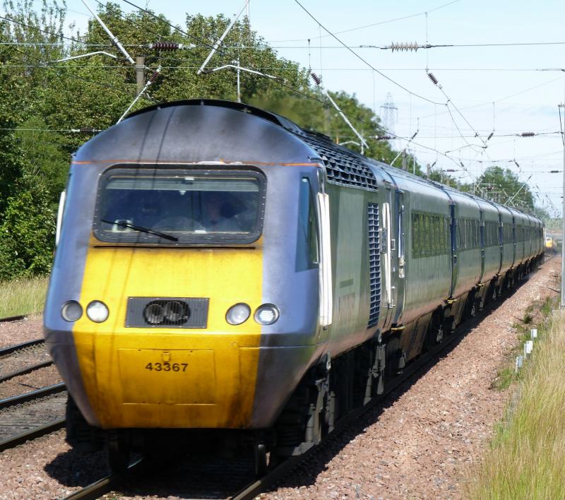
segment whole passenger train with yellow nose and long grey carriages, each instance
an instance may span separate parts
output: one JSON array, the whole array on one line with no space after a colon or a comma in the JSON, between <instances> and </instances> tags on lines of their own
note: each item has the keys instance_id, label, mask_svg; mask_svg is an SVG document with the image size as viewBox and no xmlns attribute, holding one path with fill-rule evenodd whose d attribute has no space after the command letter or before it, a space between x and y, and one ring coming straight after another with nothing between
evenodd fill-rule
<instances>
[{"instance_id":1,"label":"whole passenger train with yellow nose and long grey carriages","mask_svg":"<svg viewBox=\"0 0 565 500\"><path fill-rule=\"evenodd\" d=\"M67 441L263 474L532 270L541 220L250 105L147 107L61 197L44 337Z\"/></svg>"}]
</instances>

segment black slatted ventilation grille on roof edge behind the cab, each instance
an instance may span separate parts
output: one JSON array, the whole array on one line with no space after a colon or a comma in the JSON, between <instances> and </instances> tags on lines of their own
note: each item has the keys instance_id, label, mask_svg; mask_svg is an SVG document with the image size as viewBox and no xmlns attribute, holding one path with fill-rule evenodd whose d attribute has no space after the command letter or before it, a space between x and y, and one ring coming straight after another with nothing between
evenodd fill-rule
<instances>
[{"instance_id":1,"label":"black slatted ventilation grille on roof edge behind the cab","mask_svg":"<svg viewBox=\"0 0 565 500\"><path fill-rule=\"evenodd\" d=\"M355 186L376 191L376 179L355 153L335 147L333 143L314 136L301 137L302 141L316 150L326 165L328 181L342 186Z\"/></svg>"}]
</instances>

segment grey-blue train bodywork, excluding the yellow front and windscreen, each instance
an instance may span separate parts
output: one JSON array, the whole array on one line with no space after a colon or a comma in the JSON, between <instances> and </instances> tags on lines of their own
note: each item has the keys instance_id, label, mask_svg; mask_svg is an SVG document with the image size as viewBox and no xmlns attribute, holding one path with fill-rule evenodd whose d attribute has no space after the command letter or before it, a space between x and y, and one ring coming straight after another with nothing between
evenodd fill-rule
<instances>
[{"instance_id":1,"label":"grey-blue train bodywork, excluding the yellow front and windscreen","mask_svg":"<svg viewBox=\"0 0 565 500\"><path fill-rule=\"evenodd\" d=\"M273 455L319 442L544 250L537 218L363 157L278 115L215 100L143 109L78 151L47 297L47 345L94 427L100 415L60 311L81 294L97 185L116 165L244 167L265 177L261 294L280 319L261 326L246 427Z\"/></svg>"}]
</instances>

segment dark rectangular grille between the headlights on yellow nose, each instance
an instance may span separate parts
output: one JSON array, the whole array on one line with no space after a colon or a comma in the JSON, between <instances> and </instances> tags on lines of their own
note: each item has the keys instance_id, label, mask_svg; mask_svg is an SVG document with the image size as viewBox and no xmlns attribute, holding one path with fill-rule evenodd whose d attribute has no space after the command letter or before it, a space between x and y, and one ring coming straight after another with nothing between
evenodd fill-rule
<instances>
[{"instance_id":1,"label":"dark rectangular grille between the headlights on yellow nose","mask_svg":"<svg viewBox=\"0 0 565 500\"><path fill-rule=\"evenodd\" d=\"M128 297L126 327L206 328L209 299Z\"/></svg>"}]
</instances>

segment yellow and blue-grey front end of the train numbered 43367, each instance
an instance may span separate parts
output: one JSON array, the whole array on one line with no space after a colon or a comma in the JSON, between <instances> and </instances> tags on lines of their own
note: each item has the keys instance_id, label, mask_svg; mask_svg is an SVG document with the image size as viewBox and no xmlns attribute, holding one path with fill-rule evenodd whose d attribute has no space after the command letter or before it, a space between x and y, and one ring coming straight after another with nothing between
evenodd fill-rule
<instances>
[{"instance_id":1,"label":"yellow and blue-grey front end of the train numbered 43367","mask_svg":"<svg viewBox=\"0 0 565 500\"><path fill-rule=\"evenodd\" d=\"M243 111L145 109L71 165L45 337L69 388L68 440L106 441L116 467L150 429L237 429L238 446L257 446L254 429L322 355L321 164Z\"/></svg>"}]
</instances>

